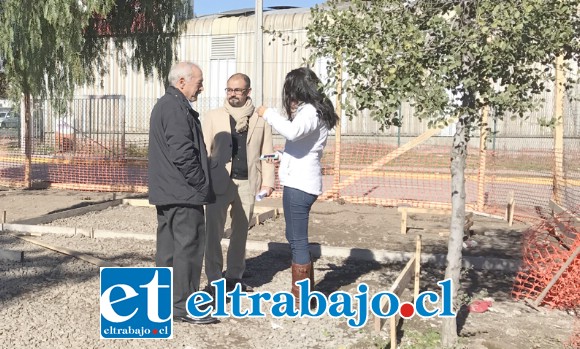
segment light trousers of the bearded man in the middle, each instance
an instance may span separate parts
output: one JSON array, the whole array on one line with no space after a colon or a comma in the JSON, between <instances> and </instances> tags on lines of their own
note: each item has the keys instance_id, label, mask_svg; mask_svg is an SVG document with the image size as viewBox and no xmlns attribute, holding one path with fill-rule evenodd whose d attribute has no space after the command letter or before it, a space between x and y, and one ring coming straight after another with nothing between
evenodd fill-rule
<instances>
[{"instance_id":1,"label":"light trousers of the bearded man in the middle","mask_svg":"<svg viewBox=\"0 0 580 349\"><path fill-rule=\"evenodd\" d=\"M207 245L205 250L205 274L208 284L221 279L224 259L221 241L228 208L231 206L232 234L227 252L227 279L241 279L246 269L246 241L248 223L254 214L255 193L250 191L247 180L232 179L223 195L216 195L216 202L206 206Z\"/></svg>"}]
</instances>

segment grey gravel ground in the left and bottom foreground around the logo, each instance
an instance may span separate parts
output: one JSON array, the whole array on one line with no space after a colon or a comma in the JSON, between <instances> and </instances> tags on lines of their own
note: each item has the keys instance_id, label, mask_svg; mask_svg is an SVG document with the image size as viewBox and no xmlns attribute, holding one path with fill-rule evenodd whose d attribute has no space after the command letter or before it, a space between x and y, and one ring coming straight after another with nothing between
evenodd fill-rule
<instances>
[{"instance_id":1,"label":"grey gravel ground in the left and bottom foreground around the logo","mask_svg":"<svg viewBox=\"0 0 580 349\"><path fill-rule=\"evenodd\" d=\"M153 266L154 243L132 239L94 240L83 237L34 237L51 245L90 252L121 266ZM99 268L11 235L1 234L0 245L25 253L24 263L0 264L0 348L339 348L355 345L368 336L349 328L344 319L232 319L209 326L174 324L171 341L100 340ZM130 251L130 252L129 252ZM317 277L332 273L339 260L317 262ZM363 263L364 264L364 263ZM367 263L367 268L377 265ZM248 283L257 290L289 288L288 256L251 253ZM266 272L264 272L266 271ZM345 269L348 274L348 268ZM352 277L352 275L351 275ZM380 279L394 279L383 274ZM371 272L357 278L369 282L374 292L379 277ZM348 290L351 279L345 279ZM204 282L203 282L204 283Z\"/></svg>"}]
</instances>

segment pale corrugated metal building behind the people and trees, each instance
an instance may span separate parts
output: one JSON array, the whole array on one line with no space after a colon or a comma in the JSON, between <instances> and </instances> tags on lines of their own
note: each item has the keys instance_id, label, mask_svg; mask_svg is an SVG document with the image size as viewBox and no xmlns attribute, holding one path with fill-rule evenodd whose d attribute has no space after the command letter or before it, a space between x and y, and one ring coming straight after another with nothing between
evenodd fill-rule
<instances>
[{"instance_id":1,"label":"pale corrugated metal building behind the people and trees","mask_svg":"<svg viewBox=\"0 0 580 349\"><path fill-rule=\"evenodd\" d=\"M264 79L263 101L269 106L281 106L281 90L286 73L304 65L309 56L306 48L306 26L310 10L293 8L264 12L264 28L283 33L286 41L264 35ZM228 14L198 17L187 23L187 29L177 44L178 58L199 64L204 72L205 90L195 107L203 113L221 106L225 97L227 78L235 72L243 72L255 80L255 17L253 9L232 11ZM296 40L295 44L291 44ZM76 95L120 95L126 109L125 128L128 133L145 133L148 118L155 100L164 92L163 83L157 77L145 79L142 73L130 71L122 74L111 55L110 74L102 77L95 86L80 88ZM324 62L319 61L313 69L321 78L325 77ZM254 91L256 93L256 91ZM578 91L571 91L577 96ZM526 121L498 120L495 129L498 136L549 137L551 130L540 126L539 118L551 118L552 96L546 93L546 103L537 112L530 113ZM580 110L577 101L570 101L566 108L566 136L580 136ZM381 132L379 124L367 113L348 120L343 117L342 133L345 135L418 135L427 129L426 122L413 117L408 104L402 107L403 126ZM491 124L491 122L490 122ZM491 125L493 127L493 124ZM442 136L451 136L453 128L442 131Z\"/></svg>"}]
</instances>

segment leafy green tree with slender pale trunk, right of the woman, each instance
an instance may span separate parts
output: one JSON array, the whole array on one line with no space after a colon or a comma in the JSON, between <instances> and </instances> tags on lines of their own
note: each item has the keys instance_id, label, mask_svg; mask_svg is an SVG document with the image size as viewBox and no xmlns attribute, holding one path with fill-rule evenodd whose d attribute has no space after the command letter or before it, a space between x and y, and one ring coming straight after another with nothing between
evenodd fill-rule
<instances>
[{"instance_id":1,"label":"leafy green tree with slender pale trunk, right of the woman","mask_svg":"<svg viewBox=\"0 0 580 349\"><path fill-rule=\"evenodd\" d=\"M523 117L536 107L555 58L578 58L579 3L329 0L312 10L308 46L313 57L341 56L349 115L369 109L384 127L398 125L399 103L410 101L431 127L457 121L445 274L454 285L460 285L467 143L482 126L481 111ZM338 66L328 65L332 86ZM443 345L456 343L454 318L443 320L442 336Z\"/></svg>"}]
</instances>

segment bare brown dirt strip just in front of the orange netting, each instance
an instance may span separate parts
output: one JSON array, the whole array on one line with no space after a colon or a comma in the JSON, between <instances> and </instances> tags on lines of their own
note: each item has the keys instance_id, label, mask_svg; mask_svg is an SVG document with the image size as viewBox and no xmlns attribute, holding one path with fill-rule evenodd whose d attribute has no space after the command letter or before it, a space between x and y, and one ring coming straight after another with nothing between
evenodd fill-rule
<instances>
[{"instance_id":1,"label":"bare brown dirt strip just in front of the orange netting","mask_svg":"<svg viewBox=\"0 0 580 349\"><path fill-rule=\"evenodd\" d=\"M0 211L6 211L7 222L58 212L67 208L82 207L91 203L112 199L112 193L75 192L62 190L4 190L0 191ZM117 193L117 198L135 197ZM267 199L257 206L282 207L281 199ZM131 208L131 215L139 215L142 224L136 232L151 232L156 226L155 212L152 208ZM110 220L87 221L78 227L133 231L136 227L123 227L111 213ZM126 213L128 214L128 212ZM88 217L91 217L89 214ZM423 251L426 253L447 253L449 230L448 216L429 214L410 214L408 233L400 234L400 214L396 208L338 204L317 201L311 211L309 227L310 242L313 244L382 249L412 252L415 237L422 236ZM518 258L521 232L527 227L516 222L509 227L505 221L475 215L470 240L476 245L464 250L466 255L500 258ZM57 224L57 222L55 223ZM120 225L120 226L119 226ZM133 230L131 230L133 229ZM279 221L266 221L254 227L249 233L250 240L286 242L284 225Z\"/></svg>"}]
</instances>

